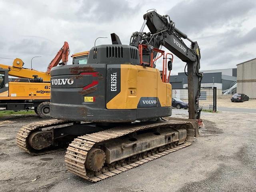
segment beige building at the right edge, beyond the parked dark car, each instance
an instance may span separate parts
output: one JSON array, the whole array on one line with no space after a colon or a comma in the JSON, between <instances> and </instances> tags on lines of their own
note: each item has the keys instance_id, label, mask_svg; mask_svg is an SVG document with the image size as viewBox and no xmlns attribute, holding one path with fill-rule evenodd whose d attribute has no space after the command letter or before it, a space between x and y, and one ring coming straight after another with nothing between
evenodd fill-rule
<instances>
[{"instance_id":1,"label":"beige building at the right edge, beyond the parked dark car","mask_svg":"<svg viewBox=\"0 0 256 192\"><path fill-rule=\"evenodd\" d=\"M256 58L237 64L237 92L256 98Z\"/></svg>"}]
</instances>

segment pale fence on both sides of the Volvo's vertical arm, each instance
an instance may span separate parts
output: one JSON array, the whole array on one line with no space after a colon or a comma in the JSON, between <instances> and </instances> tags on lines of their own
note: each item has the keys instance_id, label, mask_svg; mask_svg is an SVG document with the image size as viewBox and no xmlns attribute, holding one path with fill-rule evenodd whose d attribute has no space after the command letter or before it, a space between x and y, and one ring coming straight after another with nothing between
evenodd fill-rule
<instances>
[{"instance_id":1,"label":"pale fence on both sides of the Volvo's vertical arm","mask_svg":"<svg viewBox=\"0 0 256 192\"><path fill-rule=\"evenodd\" d=\"M222 96L222 90L217 88L201 88L199 106L205 110L218 110L217 96ZM172 97L188 102L188 89L173 89Z\"/></svg>"}]
</instances>

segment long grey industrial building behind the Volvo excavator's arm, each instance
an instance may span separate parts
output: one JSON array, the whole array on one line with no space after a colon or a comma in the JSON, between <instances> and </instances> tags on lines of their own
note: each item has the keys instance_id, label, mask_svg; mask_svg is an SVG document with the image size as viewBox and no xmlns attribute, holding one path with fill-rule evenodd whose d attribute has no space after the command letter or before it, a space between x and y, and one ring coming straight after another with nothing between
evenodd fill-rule
<instances>
[{"instance_id":1,"label":"long grey industrial building behind the Volvo excavator's arm","mask_svg":"<svg viewBox=\"0 0 256 192\"><path fill-rule=\"evenodd\" d=\"M230 85L236 81L236 68L205 70L204 78L201 82L201 88L217 87L219 90L227 90ZM182 89L188 87L188 78L184 72L170 77L170 83L173 89Z\"/></svg>"}]
</instances>

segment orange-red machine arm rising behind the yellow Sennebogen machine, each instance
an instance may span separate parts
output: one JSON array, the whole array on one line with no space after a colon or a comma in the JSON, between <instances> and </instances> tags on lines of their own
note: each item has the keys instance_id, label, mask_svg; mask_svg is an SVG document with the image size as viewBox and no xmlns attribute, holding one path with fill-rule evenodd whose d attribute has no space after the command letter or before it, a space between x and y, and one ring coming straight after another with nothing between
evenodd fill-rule
<instances>
[{"instance_id":1,"label":"orange-red machine arm rising behind the yellow Sennebogen machine","mask_svg":"<svg viewBox=\"0 0 256 192\"><path fill-rule=\"evenodd\" d=\"M62 60L62 63L61 63L62 65L66 65L68 62L69 52L70 52L70 49L68 46L68 42L65 41L62 48L58 51L54 59L48 65L46 73L50 74L51 69L57 66L60 60Z\"/></svg>"}]
</instances>

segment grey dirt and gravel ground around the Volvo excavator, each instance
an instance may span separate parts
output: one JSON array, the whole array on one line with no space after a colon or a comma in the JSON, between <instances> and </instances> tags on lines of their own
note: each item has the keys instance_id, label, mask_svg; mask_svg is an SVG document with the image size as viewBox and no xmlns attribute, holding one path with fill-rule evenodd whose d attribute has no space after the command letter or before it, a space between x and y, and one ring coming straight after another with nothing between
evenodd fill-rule
<instances>
[{"instance_id":1,"label":"grey dirt and gravel ground around the Volvo excavator","mask_svg":"<svg viewBox=\"0 0 256 192\"><path fill-rule=\"evenodd\" d=\"M244 102L245 103L245 102ZM187 110L173 110L187 117ZM0 189L4 192L256 191L256 114L202 112L205 126L192 146L93 184L64 166L65 152L31 156L15 143L37 116L0 120Z\"/></svg>"}]
</instances>

